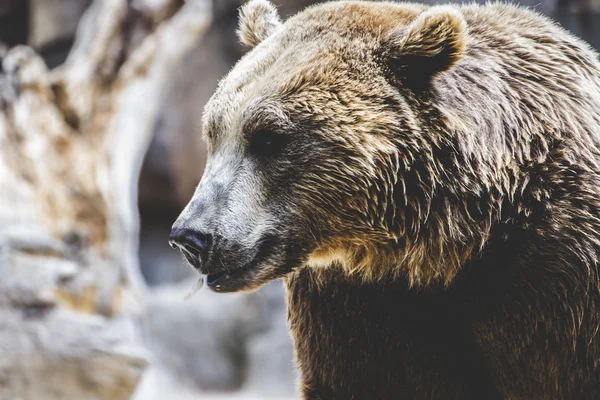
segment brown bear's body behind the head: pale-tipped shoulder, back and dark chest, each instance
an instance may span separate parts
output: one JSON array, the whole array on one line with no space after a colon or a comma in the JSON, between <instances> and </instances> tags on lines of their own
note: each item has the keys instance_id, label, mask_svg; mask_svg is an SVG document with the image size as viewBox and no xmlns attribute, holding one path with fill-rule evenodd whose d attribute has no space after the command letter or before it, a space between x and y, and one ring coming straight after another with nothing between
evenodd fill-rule
<instances>
[{"instance_id":1,"label":"brown bear's body behind the head: pale-tipped shoulder, back and dark chest","mask_svg":"<svg viewBox=\"0 0 600 400\"><path fill-rule=\"evenodd\" d=\"M490 196L501 203L498 222L450 284L419 288L393 277L365 284L337 268L286 278L307 399L600 398L596 55L530 11L455 10L467 23L466 54L415 95L414 107L434 120L444 119L443 109L449 119L431 129L463 124L479 136L472 140L489 140L483 151L528 147L515 167L527 183L512 196ZM485 137L494 129L508 143ZM584 156L580 146L589 146ZM498 172L485 168L471 179ZM463 171L447 171L460 185Z\"/></svg>"}]
</instances>

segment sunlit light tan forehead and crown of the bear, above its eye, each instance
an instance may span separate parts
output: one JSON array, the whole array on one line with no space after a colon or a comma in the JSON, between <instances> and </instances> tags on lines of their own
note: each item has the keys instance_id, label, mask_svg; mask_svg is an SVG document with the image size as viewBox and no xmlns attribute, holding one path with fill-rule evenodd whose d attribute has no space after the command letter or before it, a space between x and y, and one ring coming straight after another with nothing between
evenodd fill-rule
<instances>
[{"instance_id":1,"label":"sunlit light tan forehead and crown of the bear, above its eye","mask_svg":"<svg viewBox=\"0 0 600 400\"><path fill-rule=\"evenodd\" d=\"M356 86L351 70L360 70L360 80L371 80L368 89L375 90L376 76L365 56L386 32L408 25L424 9L416 4L353 1L307 8L243 57L221 81L205 107L204 134L210 138L223 131L239 132L243 128L236 124L247 123L260 110L283 117L278 100L299 89L312 88L313 95L320 91L325 96L334 91L332 86L348 85L350 80ZM366 89L359 86L354 89ZM350 94L350 89L344 91Z\"/></svg>"}]
</instances>

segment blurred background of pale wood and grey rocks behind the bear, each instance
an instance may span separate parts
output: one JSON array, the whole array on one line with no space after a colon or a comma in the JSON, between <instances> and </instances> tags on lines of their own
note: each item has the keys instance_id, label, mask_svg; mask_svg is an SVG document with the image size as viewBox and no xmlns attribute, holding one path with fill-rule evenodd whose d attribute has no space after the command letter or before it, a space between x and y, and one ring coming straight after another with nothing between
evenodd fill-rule
<instances>
[{"instance_id":1,"label":"blurred background of pale wood and grey rocks behind the bear","mask_svg":"<svg viewBox=\"0 0 600 400\"><path fill-rule=\"evenodd\" d=\"M194 8L184 3L194 3ZM0 358L4 359L0 361L0 398L297 398L297 373L286 328L281 282L253 294L215 295L203 290L184 301L197 275L167 244L171 224L202 176L205 163L200 128L202 108L218 80L244 54L235 36L237 9L242 3L241 0L0 0L0 42L4 44L0 79L0 105L4 113L4 122L0 124L4 132L0 134L0 146L4 150L0 150L0 159L4 158L4 164L0 163L0 181L3 174L5 181L0 182L0 198L4 199L0 202L3 224L0 225L3 310L0 319L6 317L0 322ZM274 3L285 18L314 1L274 0ZM549 15L596 49L600 48L600 0L519 3ZM195 22L185 20L184 17L190 16L204 18L205 24L194 25ZM113 22L115 26L111 28ZM89 29L84 25L89 25ZM166 28L161 31L161 26ZM173 55L180 44L181 51ZM19 47L18 52L8 51L19 45L31 47L39 57ZM145 54L142 50L146 47L153 47L154 53L148 56L150 61L135 64L142 57L138 53ZM159 67L149 68L150 72L127 75L128 68L138 71L130 68L130 64L138 69L140 65L153 65L160 54L171 62L158 63ZM45 66L39 65L39 60ZM161 84L152 86L153 79ZM29 90L26 88L32 86L26 87L24 82L33 81L42 88L47 85L47 92L40 92L45 93L43 96L38 92L32 92L30 97L25 95ZM88 105L81 105L78 96L85 97L88 86L94 88L88 96L93 99L87 100ZM46 109L64 119L60 122L64 128L56 128L52 116L43 119ZM39 123L34 123L38 120ZM104 120L110 123L101 122ZM113 129L111 124L128 128ZM129 134L134 137L138 125L144 125L146 132L140 139L143 143L132 144L124 138ZM55 129L58 133L52 133ZM63 135L61 129L68 132ZM104 135L113 131L118 131L119 140L111 139L111 134ZM44 137L48 135L59 136L64 143L47 144ZM78 135L96 135L102 139L90 144ZM81 140L85 145L77 144ZM15 150L27 141L46 144L41 146L40 153ZM106 152L110 160L120 160L119 157L128 160L130 167L115 161L113 164L120 165L118 168L106 162L106 169L109 176L112 176L110 171L117 171L116 180L123 175L130 177L135 187L125 188L137 202L139 221L135 204L129 204L129 208L119 206L119 196L115 193L120 192L101 184L104 181L98 177L102 174L98 173L100 168L96 165L100 164L96 161L90 162L90 171L95 177L92 181L100 182L97 187L90 186L89 175L82 178L76 174L83 168L79 163L85 164L76 155L71 158L61 155L54 161L32 156L49 156L64 148L65 143L76 149L68 153L69 157L78 154L81 160L94 160L97 154ZM140 154L138 159L121 156L128 146L135 147L132 153ZM15 162L13 155L17 153L25 158ZM104 161L98 162L105 165ZM33 165L33 172L23 167L26 163ZM60 172L53 172L49 178L42 172L49 165L59 164L55 170ZM65 176L72 175L76 177L65 180ZM54 184L50 189L40 189L52 179ZM57 185L65 186L67 181L72 183L69 191L65 197L57 197ZM22 190L21 182L26 182ZM14 193L19 195L12 198ZM40 196L50 198L48 203L55 213L50 221L47 208L40 208ZM76 213L75 219L61 216L96 198L103 200L92 211L86 208L87 211ZM15 211L14 204L29 204L27 201L31 203L29 208L22 213ZM74 205L63 210L57 206L61 202ZM15 213L23 217L17 218ZM44 217L39 217L40 214ZM89 217L90 214L97 215L96 219ZM81 218L107 220L103 226L108 227L113 226L110 221L116 221L117 228L107 229L98 239L99 234L90 228L97 222L80 227ZM59 225L57 233L54 228ZM53 244L47 244L44 238L28 244L31 234L23 235L26 240L19 235L15 239L15 232L26 226L32 226L32 232L48 230L48 243ZM52 238L56 237L59 240L54 243ZM121 238L114 242L126 243L124 246L133 249L133 258L123 256L125 250L120 251L118 245L106 244L113 243L114 237ZM127 238L125 242L122 237ZM73 250L73 246L77 249ZM38 258L32 262L31 257ZM47 273L44 279L40 278L43 282L34 286L32 276L40 275L40 270L46 271L44 268L52 265L47 271L55 271L54 264L49 264L50 258L52 263L60 260L61 267L56 271L62 272ZM70 263L68 268L65 260ZM80 279L80 275L87 278ZM101 298L102 287L110 287L108 303L113 304L117 293L113 290L115 283L102 286L90 282L106 276L110 280L113 275L118 277L113 280L118 281L121 293L117 297L129 298L122 293L132 292L133 300L119 300L129 306L114 310L109 307L106 311L96 298ZM94 289L89 291L90 288ZM59 313L63 309L64 315ZM58 318L55 315L62 316L54 320ZM87 316L95 319L84 320ZM125 328L123 321L127 321ZM53 324L56 329L50 328ZM73 327L69 328L69 324ZM81 326L85 329L79 331ZM122 339L125 336L127 340ZM59 349L60 346L64 348ZM135 352L122 350L132 346L137 348ZM73 352L74 348L78 352ZM102 357L97 357L98 354ZM113 362L115 357L121 361ZM75 360L73 364L71 359ZM122 369L123 365L128 369ZM82 373L82 369L87 372ZM69 385L80 387L70 389ZM106 390L112 386L117 389Z\"/></svg>"}]
</instances>

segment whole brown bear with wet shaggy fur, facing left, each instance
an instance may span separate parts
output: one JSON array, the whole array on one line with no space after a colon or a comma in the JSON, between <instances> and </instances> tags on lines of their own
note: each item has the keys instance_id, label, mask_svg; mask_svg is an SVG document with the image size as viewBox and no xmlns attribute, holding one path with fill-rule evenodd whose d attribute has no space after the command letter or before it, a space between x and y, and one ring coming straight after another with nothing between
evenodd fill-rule
<instances>
[{"instance_id":1,"label":"whole brown bear with wet shaggy fur, facing left","mask_svg":"<svg viewBox=\"0 0 600 400\"><path fill-rule=\"evenodd\" d=\"M239 34L171 243L215 291L285 278L304 398L599 399L597 55L505 4Z\"/></svg>"}]
</instances>

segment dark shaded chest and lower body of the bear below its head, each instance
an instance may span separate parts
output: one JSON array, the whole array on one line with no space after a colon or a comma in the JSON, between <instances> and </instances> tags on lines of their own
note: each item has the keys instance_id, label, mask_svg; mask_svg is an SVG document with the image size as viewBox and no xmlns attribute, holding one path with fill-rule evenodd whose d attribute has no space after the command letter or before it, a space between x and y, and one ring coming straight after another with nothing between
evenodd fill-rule
<instances>
[{"instance_id":1,"label":"dark shaded chest and lower body of the bear below its head","mask_svg":"<svg viewBox=\"0 0 600 400\"><path fill-rule=\"evenodd\" d=\"M304 398L598 398L597 293L535 268L524 277L515 247L496 251L447 289L288 278Z\"/></svg>"}]
</instances>

